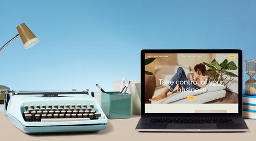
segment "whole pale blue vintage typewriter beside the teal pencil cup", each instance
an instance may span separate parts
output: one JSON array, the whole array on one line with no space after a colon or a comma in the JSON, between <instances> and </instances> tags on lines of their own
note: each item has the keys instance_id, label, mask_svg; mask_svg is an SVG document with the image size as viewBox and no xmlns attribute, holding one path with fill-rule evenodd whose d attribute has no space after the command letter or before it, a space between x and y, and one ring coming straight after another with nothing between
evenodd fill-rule
<instances>
[{"instance_id":1,"label":"whole pale blue vintage typewriter beside the teal pencil cup","mask_svg":"<svg viewBox=\"0 0 256 141\"><path fill-rule=\"evenodd\" d=\"M106 129L93 93L87 91L7 91L5 115L27 134L95 132Z\"/></svg>"}]
</instances>

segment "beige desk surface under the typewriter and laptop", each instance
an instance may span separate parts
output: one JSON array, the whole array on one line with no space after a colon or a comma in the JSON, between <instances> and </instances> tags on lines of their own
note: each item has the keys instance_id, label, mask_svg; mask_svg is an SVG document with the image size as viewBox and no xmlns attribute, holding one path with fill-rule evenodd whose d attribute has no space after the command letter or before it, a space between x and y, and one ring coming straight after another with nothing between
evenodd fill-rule
<instances>
[{"instance_id":1,"label":"beige desk surface under the typewriter and laptop","mask_svg":"<svg viewBox=\"0 0 256 141\"><path fill-rule=\"evenodd\" d=\"M246 120L250 131L231 133L182 133L182 132L137 132L135 127L139 121L139 116L133 115L130 119L109 120L106 130L96 133L62 133L62 134L24 134L15 128L0 112L0 137L1 140L39 141L44 140L132 140L132 141L162 141L162 140L253 140L256 138L256 120Z\"/></svg>"}]
</instances>

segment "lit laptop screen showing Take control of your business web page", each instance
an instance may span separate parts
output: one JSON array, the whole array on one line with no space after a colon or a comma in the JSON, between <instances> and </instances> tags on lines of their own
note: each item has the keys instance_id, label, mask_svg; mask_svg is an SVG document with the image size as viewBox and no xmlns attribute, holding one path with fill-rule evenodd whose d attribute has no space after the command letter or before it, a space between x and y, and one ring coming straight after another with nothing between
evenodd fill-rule
<instances>
[{"instance_id":1,"label":"lit laptop screen showing Take control of your business web page","mask_svg":"<svg viewBox=\"0 0 256 141\"><path fill-rule=\"evenodd\" d=\"M145 53L145 113L238 113L238 53Z\"/></svg>"}]
</instances>

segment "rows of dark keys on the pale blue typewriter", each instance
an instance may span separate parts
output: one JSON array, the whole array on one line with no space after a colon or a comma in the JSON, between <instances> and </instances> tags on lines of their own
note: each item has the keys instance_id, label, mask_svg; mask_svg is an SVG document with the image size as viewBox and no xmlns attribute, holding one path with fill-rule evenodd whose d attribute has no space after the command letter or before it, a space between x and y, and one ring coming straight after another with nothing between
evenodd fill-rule
<instances>
[{"instance_id":1,"label":"rows of dark keys on the pale blue typewriter","mask_svg":"<svg viewBox=\"0 0 256 141\"><path fill-rule=\"evenodd\" d=\"M101 117L93 104L24 105L22 112L27 122L86 121Z\"/></svg>"}]
</instances>

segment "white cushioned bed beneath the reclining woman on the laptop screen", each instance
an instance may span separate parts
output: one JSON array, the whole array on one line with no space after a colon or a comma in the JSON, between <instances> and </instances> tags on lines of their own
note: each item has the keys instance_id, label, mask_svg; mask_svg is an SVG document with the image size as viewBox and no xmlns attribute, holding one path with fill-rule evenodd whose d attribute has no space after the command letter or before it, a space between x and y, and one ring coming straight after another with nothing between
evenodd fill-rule
<instances>
[{"instance_id":1,"label":"white cushioned bed beneath the reclining woman on the laptop screen","mask_svg":"<svg viewBox=\"0 0 256 141\"><path fill-rule=\"evenodd\" d=\"M156 74L156 88L152 98L158 96L166 89L164 84L159 83L159 79L171 79L172 76L177 72L177 68L182 67L188 75L189 66L156 66L155 74ZM177 89L177 87L176 87ZM210 86L207 84L205 87L207 92L180 92L171 94L170 92L167 94L167 98L164 98L159 101L152 101L152 103L205 103L212 100L216 100L226 96L226 90L224 86ZM189 100L187 96L195 96L195 99Z\"/></svg>"}]
</instances>

